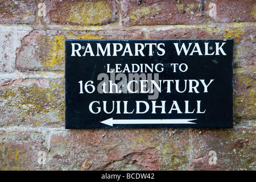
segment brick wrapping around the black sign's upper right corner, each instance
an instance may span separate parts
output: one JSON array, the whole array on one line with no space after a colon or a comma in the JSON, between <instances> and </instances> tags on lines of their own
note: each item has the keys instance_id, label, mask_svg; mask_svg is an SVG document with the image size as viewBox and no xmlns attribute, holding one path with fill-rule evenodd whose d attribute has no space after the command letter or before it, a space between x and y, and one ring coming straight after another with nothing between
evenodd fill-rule
<instances>
[{"instance_id":1,"label":"brick wrapping around the black sign's upper right corner","mask_svg":"<svg viewBox=\"0 0 256 182\"><path fill-rule=\"evenodd\" d=\"M200 28L152 31L151 39L234 39L234 67L254 68L255 27L240 28Z\"/></svg>"}]
</instances>

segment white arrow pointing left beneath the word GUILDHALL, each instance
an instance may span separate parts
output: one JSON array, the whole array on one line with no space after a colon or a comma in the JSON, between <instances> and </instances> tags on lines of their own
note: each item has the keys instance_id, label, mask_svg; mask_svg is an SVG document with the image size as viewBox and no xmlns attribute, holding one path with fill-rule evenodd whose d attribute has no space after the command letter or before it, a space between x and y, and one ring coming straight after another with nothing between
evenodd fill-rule
<instances>
[{"instance_id":1,"label":"white arrow pointing left beneath the word GUILDHALL","mask_svg":"<svg viewBox=\"0 0 256 182\"><path fill-rule=\"evenodd\" d=\"M105 121L101 121L105 125L127 125L127 124L196 124L193 121L196 119L113 119L109 118Z\"/></svg>"}]
</instances>

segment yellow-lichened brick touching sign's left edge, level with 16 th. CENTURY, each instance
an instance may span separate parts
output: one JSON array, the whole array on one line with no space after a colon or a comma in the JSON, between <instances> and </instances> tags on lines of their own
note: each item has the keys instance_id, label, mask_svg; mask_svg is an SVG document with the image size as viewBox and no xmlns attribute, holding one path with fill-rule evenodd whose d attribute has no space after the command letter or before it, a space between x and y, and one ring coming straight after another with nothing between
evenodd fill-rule
<instances>
[{"instance_id":1,"label":"yellow-lichened brick touching sign's left edge, level with 16 th. CENTURY","mask_svg":"<svg viewBox=\"0 0 256 182\"><path fill-rule=\"evenodd\" d=\"M30 85L15 85L1 90L0 107L3 114L13 113L20 121L40 125L47 122L64 122L63 82L49 81L49 88L39 87L36 82ZM8 121L6 121L8 122Z\"/></svg>"}]
</instances>

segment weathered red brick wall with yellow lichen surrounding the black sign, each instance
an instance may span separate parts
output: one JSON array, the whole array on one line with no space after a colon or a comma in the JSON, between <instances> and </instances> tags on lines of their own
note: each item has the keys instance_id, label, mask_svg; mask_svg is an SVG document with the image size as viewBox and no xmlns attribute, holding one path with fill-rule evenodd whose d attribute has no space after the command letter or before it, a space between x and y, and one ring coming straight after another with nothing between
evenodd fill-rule
<instances>
[{"instance_id":1,"label":"weathered red brick wall with yellow lichen surrounding the black sign","mask_svg":"<svg viewBox=\"0 0 256 182\"><path fill-rule=\"evenodd\" d=\"M1 170L255 170L255 0L5 0L0 23ZM234 39L233 129L64 129L65 39L167 38Z\"/></svg>"}]
</instances>

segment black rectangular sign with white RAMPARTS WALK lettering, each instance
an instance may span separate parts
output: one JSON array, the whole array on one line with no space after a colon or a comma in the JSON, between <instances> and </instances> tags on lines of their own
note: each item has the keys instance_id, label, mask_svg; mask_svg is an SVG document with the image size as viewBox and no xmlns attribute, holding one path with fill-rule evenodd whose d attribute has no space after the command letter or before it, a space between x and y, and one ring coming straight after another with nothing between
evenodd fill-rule
<instances>
[{"instance_id":1,"label":"black rectangular sign with white RAMPARTS WALK lettering","mask_svg":"<svg viewBox=\"0 0 256 182\"><path fill-rule=\"evenodd\" d=\"M232 60L233 39L65 40L65 127L233 127Z\"/></svg>"}]
</instances>

